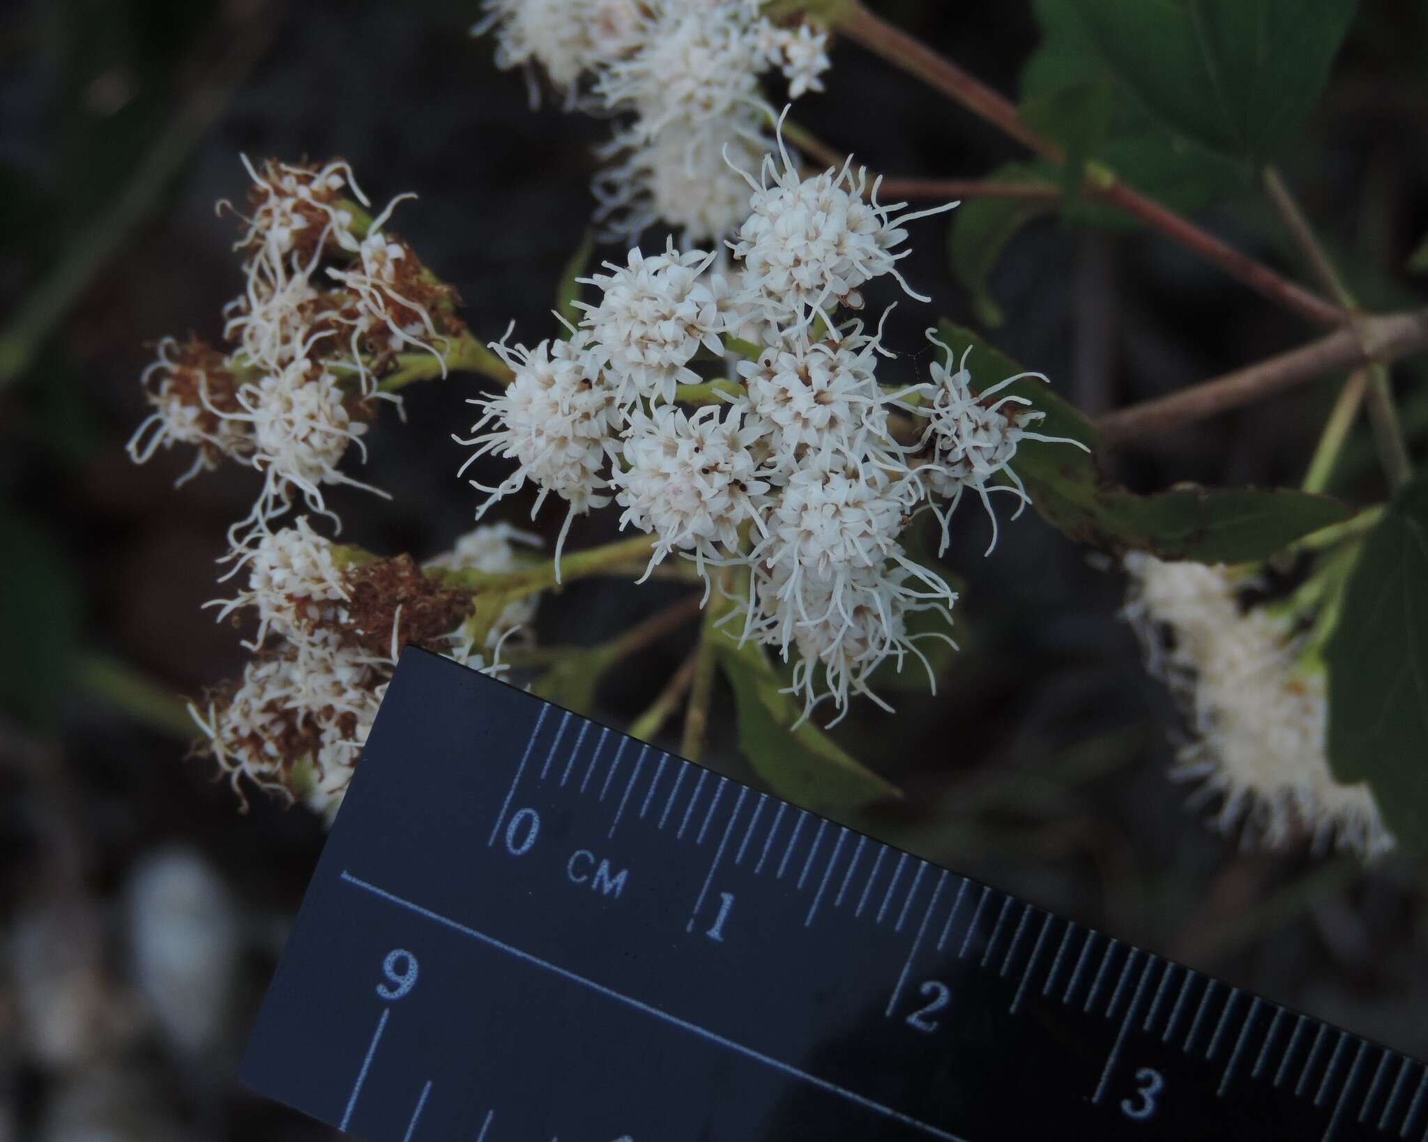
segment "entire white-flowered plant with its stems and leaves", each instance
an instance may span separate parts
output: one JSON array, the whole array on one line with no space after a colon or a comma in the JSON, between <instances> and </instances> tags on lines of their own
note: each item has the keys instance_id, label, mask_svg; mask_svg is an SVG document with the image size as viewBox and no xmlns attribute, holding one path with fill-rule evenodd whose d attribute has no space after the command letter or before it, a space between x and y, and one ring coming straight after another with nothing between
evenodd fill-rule
<instances>
[{"instance_id":1,"label":"entire white-flowered plant with its stems and leaves","mask_svg":"<svg viewBox=\"0 0 1428 1142\"><path fill-rule=\"evenodd\" d=\"M159 343L141 378L151 414L130 443L136 461L183 451L180 482L224 461L261 475L211 604L247 618L251 660L193 702L200 751L240 794L331 814L403 647L510 671L580 707L603 674L698 617L688 660L631 731L660 734L683 704L683 751L698 758L723 674L761 779L798 795L828 774L838 794L823 799L814 778L804 799L858 805L891 787L830 731L860 705L891 711L957 684L954 614L975 627L978 604L960 602L947 560L1010 558L1002 527L1032 507L1124 575L1147 668L1181 709L1172 774L1197 812L1245 844L1369 856L1422 844L1428 782L1404 774L1428 757L1428 510L1387 361L1428 347L1428 317L1359 311L1268 163L1258 104L1231 131L1151 98L1151 111L1137 104L1140 141L1112 147L1120 120L1105 127L1085 91L1045 77L1110 73L1117 98L1150 90L1134 51L1085 60L1088 43L1125 47L1132 29L1087 16L1077 54L1075 20L1042 16L1025 79L1041 101L1022 116L855 0L487 0L474 31L494 40L500 67L524 71L533 101L614 124L593 188L607 257L561 284L551 321L520 333L498 313L470 317L484 331L473 333L457 291L390 228L413 196L374 211L341 160L244 158L247 198L223 204L243 276L216 323L223 343ZM1302 76L1275 73L1298 84L1295 107L1312 103L1342 31L1324 37L1328 54L1301 53ZM790 116L834 81L838 37L1034 161L912 181L831 151ZM774 98L790 101L781 114ZM1188 137L1258 170L1331 298L1144 193L1137 147L1151 137L1161 164L1197 161ZM1112 170L1111 154L1131 168ZM912 244L938 246L950 224L954 274L995 325L995 254L1058 208L1077 226L1138 223L1327 333L1091 420L904 273ZM915 313L920 337L888 331L894 305ZM1351 375L1299 488L1142 494L1111 475L1128 441L1335 370ZM474 530L434 554L341 542L326 491L384 494L360 478L368 425L400 414L407 385L460 373L483 383L466 418L451 398L467 450L451 494L468 498ZM1389 500L1355 510L1325 491L1361 408ZM496 518L517 497L531 531ZM578 548L571 524L591 514L620 538ZM990 545L968 538L977 514ZM673 580L687 594L595 648L537 645L541 597L591 575Z\"/></svg>"}]
</instances>

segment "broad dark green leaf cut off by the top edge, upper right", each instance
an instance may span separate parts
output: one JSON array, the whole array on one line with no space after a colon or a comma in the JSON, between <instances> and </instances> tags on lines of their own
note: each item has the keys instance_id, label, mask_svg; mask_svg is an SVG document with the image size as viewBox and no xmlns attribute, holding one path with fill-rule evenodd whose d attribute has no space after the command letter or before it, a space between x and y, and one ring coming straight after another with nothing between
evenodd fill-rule
<instances>
[{"instance_id":1,"label":"broad dark green leaf cut off by the top edge, upper right","mask_svg":"<svg viewBox=\"0 0 1428 1142\"><path fill-rule=\"evenodd\" d=\"M1262 161L1328 80L1355 0L1077 0L1101 59L1162 123Z\"/></svg>"}]
</instances>

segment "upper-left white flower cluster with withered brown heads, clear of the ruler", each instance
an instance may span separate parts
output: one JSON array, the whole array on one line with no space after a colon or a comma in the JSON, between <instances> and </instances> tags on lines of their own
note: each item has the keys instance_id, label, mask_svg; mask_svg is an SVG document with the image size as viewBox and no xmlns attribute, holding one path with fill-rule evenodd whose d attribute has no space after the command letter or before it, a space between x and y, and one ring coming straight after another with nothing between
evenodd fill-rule
<instances>
[{"instance_id":1,"label":"upper-left white flower cluster with withered brown heads, clear of the ruler","mask_svg":"<svg viewBox=\"0 0 1428 1142\"><path fill-rule=\"evenodd\" d=\"M263 473L263 490L236 545L267 530L301 494L308 511L336 517L323 487L358 484L340 470L363 447L377 377L397 353L460 330L450 290L434 283L406 243L383 231L391 206L368 220L346 163L254 167L244 233L244 290L224 310L223 353L166 338L143 377L153 414L130 440L143 463L160 447L196 447L186 474L230 458ZM401 200L393 200L393 206ZM220 207L227 204L220 203Z\"/></svg>"}]
</instances>

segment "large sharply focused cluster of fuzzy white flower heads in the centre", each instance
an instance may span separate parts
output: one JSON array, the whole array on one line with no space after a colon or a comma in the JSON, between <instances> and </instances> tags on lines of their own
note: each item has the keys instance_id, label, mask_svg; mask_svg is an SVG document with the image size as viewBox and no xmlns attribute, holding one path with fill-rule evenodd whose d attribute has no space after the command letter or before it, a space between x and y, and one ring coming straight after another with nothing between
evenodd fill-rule
<instances>
[{"instance_id":1,"label":"large sharply focused cluster of fuzzy white flower heads in the centre","mask_svg":"<svg viewBox=\"0 0 1428 1142\"><path fill-rule=\"evenodd\" d=\"M621 527L653 537L651 570L693 561L735 600L731 630L797 654L805 709L831 698L844 711L885 660L925 664L912 612L950 622L954 591L904 545L914 517L935 511L945 540L964 488L985 501L1005 478L1025 500L1008 467L1018 443L1054 438L1028 431L1040 414L1025 398L978 398L965 368L880 380L894 357L881 327L838 314L884 276L917 298L895 267L920 216L880 204L851 160L800 180L780 151L761 180L741 176L753 194L728 268L673 243L607 263L583 278L598 300L577 303L568 340L494 345L514 380L471 401L481 417L458 440L473 460L517 464L496 487L473 481L480 511L530 482L536 510L565 500L563 541L613 495Z\"/></svg>"}]
</instances>

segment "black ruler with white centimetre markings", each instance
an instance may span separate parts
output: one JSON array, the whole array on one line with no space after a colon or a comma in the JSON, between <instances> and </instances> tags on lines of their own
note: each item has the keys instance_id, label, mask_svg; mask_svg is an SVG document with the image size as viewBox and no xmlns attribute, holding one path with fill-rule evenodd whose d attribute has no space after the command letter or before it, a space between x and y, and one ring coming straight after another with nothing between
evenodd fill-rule
<instances>
[{"instance_id":1,"label":"black ruler with white centimetre markings","mask_svg":"<svg viewBox=\"0 0 1428 1142\"><path fill-rule=\"evenodd\" d=\"M1412 1139L1377 1044L408 650L244 1081L373 1142Z\"/></svg>"}]
</instances>

